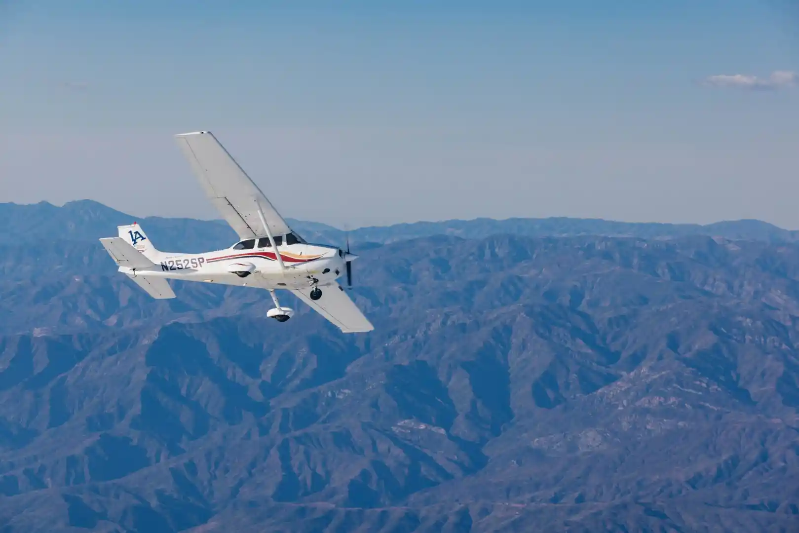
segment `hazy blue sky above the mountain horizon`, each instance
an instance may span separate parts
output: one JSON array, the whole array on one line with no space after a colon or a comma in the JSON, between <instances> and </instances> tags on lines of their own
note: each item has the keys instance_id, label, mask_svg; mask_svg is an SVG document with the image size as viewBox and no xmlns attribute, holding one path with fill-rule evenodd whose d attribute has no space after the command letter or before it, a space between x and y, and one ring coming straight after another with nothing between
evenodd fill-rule
<instances>
[{"instance_id":1,"label":"hazy blue sky above the mountain horizon","mask_svg":"<svg viewBox=\"0 0 799 533\"><path fill-rule=\"evenodd\" d=\"M211 129L288 217L799 229L792 3L0 0L0 201L216 217Z\"/></svg>"}]
</instances>

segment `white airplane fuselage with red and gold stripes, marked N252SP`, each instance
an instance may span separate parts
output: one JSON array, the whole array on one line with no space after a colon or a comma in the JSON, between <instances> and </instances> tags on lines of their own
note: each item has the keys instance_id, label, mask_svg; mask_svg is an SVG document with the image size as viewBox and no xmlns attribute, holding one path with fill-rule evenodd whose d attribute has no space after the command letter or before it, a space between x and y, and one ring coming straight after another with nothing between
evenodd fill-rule
<instances>
[{"instance_id":1,"label":"white airplane fuselage with red and gold stripes, marked N252SP","mask_svg":"<svg viewBox=\"0 0 799 533\"><path fill-rule=\"evenodd\" d=\"M257 288L307 288L335 282L345 272L344 252L332 246L280 245L283 267L272 247L222 249L205 253L160 252L150 268L121 267L121 272L173 280L203 281ZM246 273L245 273L246 272Z\"/></svg>"}]
</instances>

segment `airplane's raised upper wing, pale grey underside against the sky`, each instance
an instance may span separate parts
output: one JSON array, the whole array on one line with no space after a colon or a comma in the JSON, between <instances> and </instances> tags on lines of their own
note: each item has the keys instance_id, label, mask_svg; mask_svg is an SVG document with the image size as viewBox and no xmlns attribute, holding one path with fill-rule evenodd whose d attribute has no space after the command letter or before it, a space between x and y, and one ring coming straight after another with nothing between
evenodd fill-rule
<instances>
[{"instance_id":1,"label":"airplane's raised upper wing, pale grey underside against the sky","mask_svg":"<svg viewBox=\"0 0 799 533\"><path fill-rule=\"evenodd\" d=\"M265 237L260 206L272 235L291 233L283 217L209 131L175 136L205 193L241 239Z\"/></svg>"}]
</instances>

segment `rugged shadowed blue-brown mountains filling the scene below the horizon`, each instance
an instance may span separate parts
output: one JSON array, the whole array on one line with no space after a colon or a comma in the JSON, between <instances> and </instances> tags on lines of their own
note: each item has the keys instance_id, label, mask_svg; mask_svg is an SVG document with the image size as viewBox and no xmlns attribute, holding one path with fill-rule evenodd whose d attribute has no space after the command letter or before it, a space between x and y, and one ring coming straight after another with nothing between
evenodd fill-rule
<instances>
[{"instance_id":1,"label":"rugged shadowed blue-brown mountains filling the scene below the horizon","mask_svg":"<svg viewBox=\"0 0 799 533\"><path fill-rule=\"evenodd\" d=\"M3 533L799 531L790 238L364 233L353 336L254 289L151 300L95 240L129 217L7 206Z\"/></svg>"}]
</instances>

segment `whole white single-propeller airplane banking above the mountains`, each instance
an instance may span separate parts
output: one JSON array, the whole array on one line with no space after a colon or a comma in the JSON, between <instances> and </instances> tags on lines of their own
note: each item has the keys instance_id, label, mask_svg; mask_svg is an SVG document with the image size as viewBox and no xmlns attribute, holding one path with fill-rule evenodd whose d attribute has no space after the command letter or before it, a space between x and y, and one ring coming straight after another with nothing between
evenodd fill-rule
<instances>
[{"instance_id":1,"label":"whole white single-propeller airplane banking above the mountains","mask_svg":"<svg viewBox=\"0 0 799 533\"><path fill-rule=\"evenodd\" d=\"M213 252L161 252L137 222L117 226L118 237L100 242L119 272L157 299L175 297L170 279L264 288L275 304L266 316L278 322L294 314L277 298L276 290L284 289L344 333L374 329L338 281L346 275L352 287L352 261L358 256L350 253L349 239L346 249L304 241L213 133L174 137L209 200L240 240Z\"/></svg>"}]
</instances>

